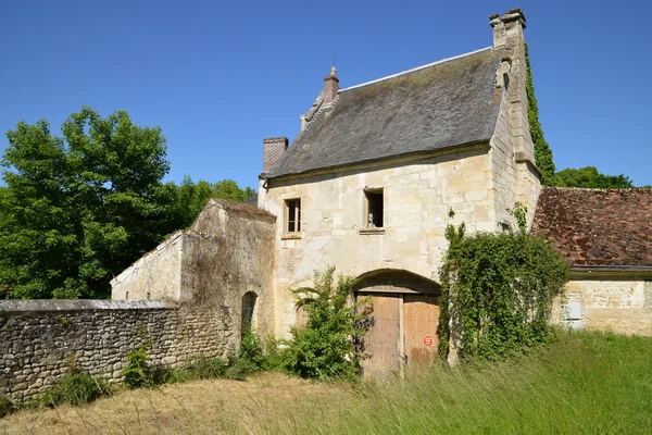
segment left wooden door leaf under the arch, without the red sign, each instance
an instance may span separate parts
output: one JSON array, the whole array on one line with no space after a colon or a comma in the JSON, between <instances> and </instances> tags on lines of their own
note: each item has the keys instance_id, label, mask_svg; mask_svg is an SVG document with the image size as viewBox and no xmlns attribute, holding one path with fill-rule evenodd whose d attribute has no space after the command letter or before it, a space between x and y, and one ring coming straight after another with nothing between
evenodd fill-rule
<instances>
[{"instance_id":1,"label":"left wooden door leaf under the arch, without the red sign","mask_svg":"<svg viewBox=\"0 0 652 435\"><path fill-rule=\"evenodd\" d=\"M372 297L372 326L363 337L362 375L364 377L399 375L401 372L400 330L401 295L364 295Z\"/></svg>"}]
</instances>

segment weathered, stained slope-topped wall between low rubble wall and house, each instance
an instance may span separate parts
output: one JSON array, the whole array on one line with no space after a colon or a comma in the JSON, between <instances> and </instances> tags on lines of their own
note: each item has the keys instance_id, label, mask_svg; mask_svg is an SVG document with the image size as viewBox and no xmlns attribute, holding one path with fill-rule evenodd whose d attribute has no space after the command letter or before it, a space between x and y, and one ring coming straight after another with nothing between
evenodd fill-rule
<instances>
[{"instance_id":1,"label":"weathered, stained slope-topped wall between low rubble wall and house","mask_svg":"<svg viewBox=\"0 0 652 435\"><path fill-rule=\"evenodd\" d=\"M266 337L274 332L275 221L255 207L211 199L189 229L175 233L115 277L112 298L214 307L239 337L242 297L253 293L253 325Z\"/></svg>"}]
</instances>

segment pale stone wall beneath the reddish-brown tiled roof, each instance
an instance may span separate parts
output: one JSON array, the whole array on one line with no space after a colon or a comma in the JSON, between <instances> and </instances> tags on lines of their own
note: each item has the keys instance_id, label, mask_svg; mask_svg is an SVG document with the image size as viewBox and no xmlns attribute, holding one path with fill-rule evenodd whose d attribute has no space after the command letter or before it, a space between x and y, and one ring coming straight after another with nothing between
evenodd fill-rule
<instances>
[{"instance_id":1,"label":"pale stone wall beneath the reddish-brown tiled roof","mask_svg":"<svg viewBox=\"0 0 652 435\"><path fill-rule=\"evenodd\" d=\"M566 285L566 310L557 300L555 324L652 336L652 281L575 277Z\"/></svg>"}]
</instances>

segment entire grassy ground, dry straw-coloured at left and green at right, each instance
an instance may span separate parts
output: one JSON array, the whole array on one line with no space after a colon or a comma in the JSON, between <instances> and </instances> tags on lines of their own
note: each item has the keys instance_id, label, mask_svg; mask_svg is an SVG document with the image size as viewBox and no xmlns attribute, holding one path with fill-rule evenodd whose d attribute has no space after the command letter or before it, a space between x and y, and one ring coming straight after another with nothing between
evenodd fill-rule
<instances>
[{"instance_id":1,"label":"entire grassy ground, dry straw-coloured at left and green at right","mask_svg":"<svg viewBox=\"0 0 652 435\"><path fill-rule=\"evenodd\" d=\"M650 434L652 338L562 334L509 362L405 381L316 384L261 373L21 411L8 434Z\"/></svg>"}]
</instances>

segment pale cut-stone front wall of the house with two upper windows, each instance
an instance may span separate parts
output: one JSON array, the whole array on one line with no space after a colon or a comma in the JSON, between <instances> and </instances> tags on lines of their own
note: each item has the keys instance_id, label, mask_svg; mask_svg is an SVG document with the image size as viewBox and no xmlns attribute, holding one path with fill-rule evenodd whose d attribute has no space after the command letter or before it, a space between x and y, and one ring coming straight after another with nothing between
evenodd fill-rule
<instances>
[{"instance_id":1,"label":"pale cut-stone front wall of the house with two upper windows","mask_svg":"<svg viewBox=\"0 0 652 435\"><path fill-rule=\"evenodd\" d=\"M448 247L447 224L496 231L488 144L411 161L272 179L259 206L276 221L276 334L287 337L296 321L289 289L312 285L313 271L334 264L352 277L378 270L406 271L438 281ZM384 228L366 228L365 190L383 189ZM301 200L301 233L286 234L285 201ZM449 217L450 210L454 216Z\"/></svg>"}]
</instances>

